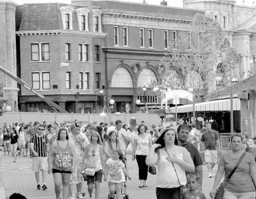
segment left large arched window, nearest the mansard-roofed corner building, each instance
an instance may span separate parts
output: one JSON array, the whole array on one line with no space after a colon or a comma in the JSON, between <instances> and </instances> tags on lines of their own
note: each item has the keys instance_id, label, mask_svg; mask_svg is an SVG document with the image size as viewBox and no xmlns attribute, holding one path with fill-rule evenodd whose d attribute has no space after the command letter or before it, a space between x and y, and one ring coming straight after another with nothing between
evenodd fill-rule
<instances>
[{"instance_id":1,"label":"left large arched window, nearest the mansard-roofed corner building","mask_svg":"<svg viewBox=\"0 0 256 199\"><path fill-rule=\"evenodd\" d=\"M133 87L133 80L131 79L131 75L123 67L116 69L114 75L112 76L111 87Z\"/></svg>"}]
</instances>

